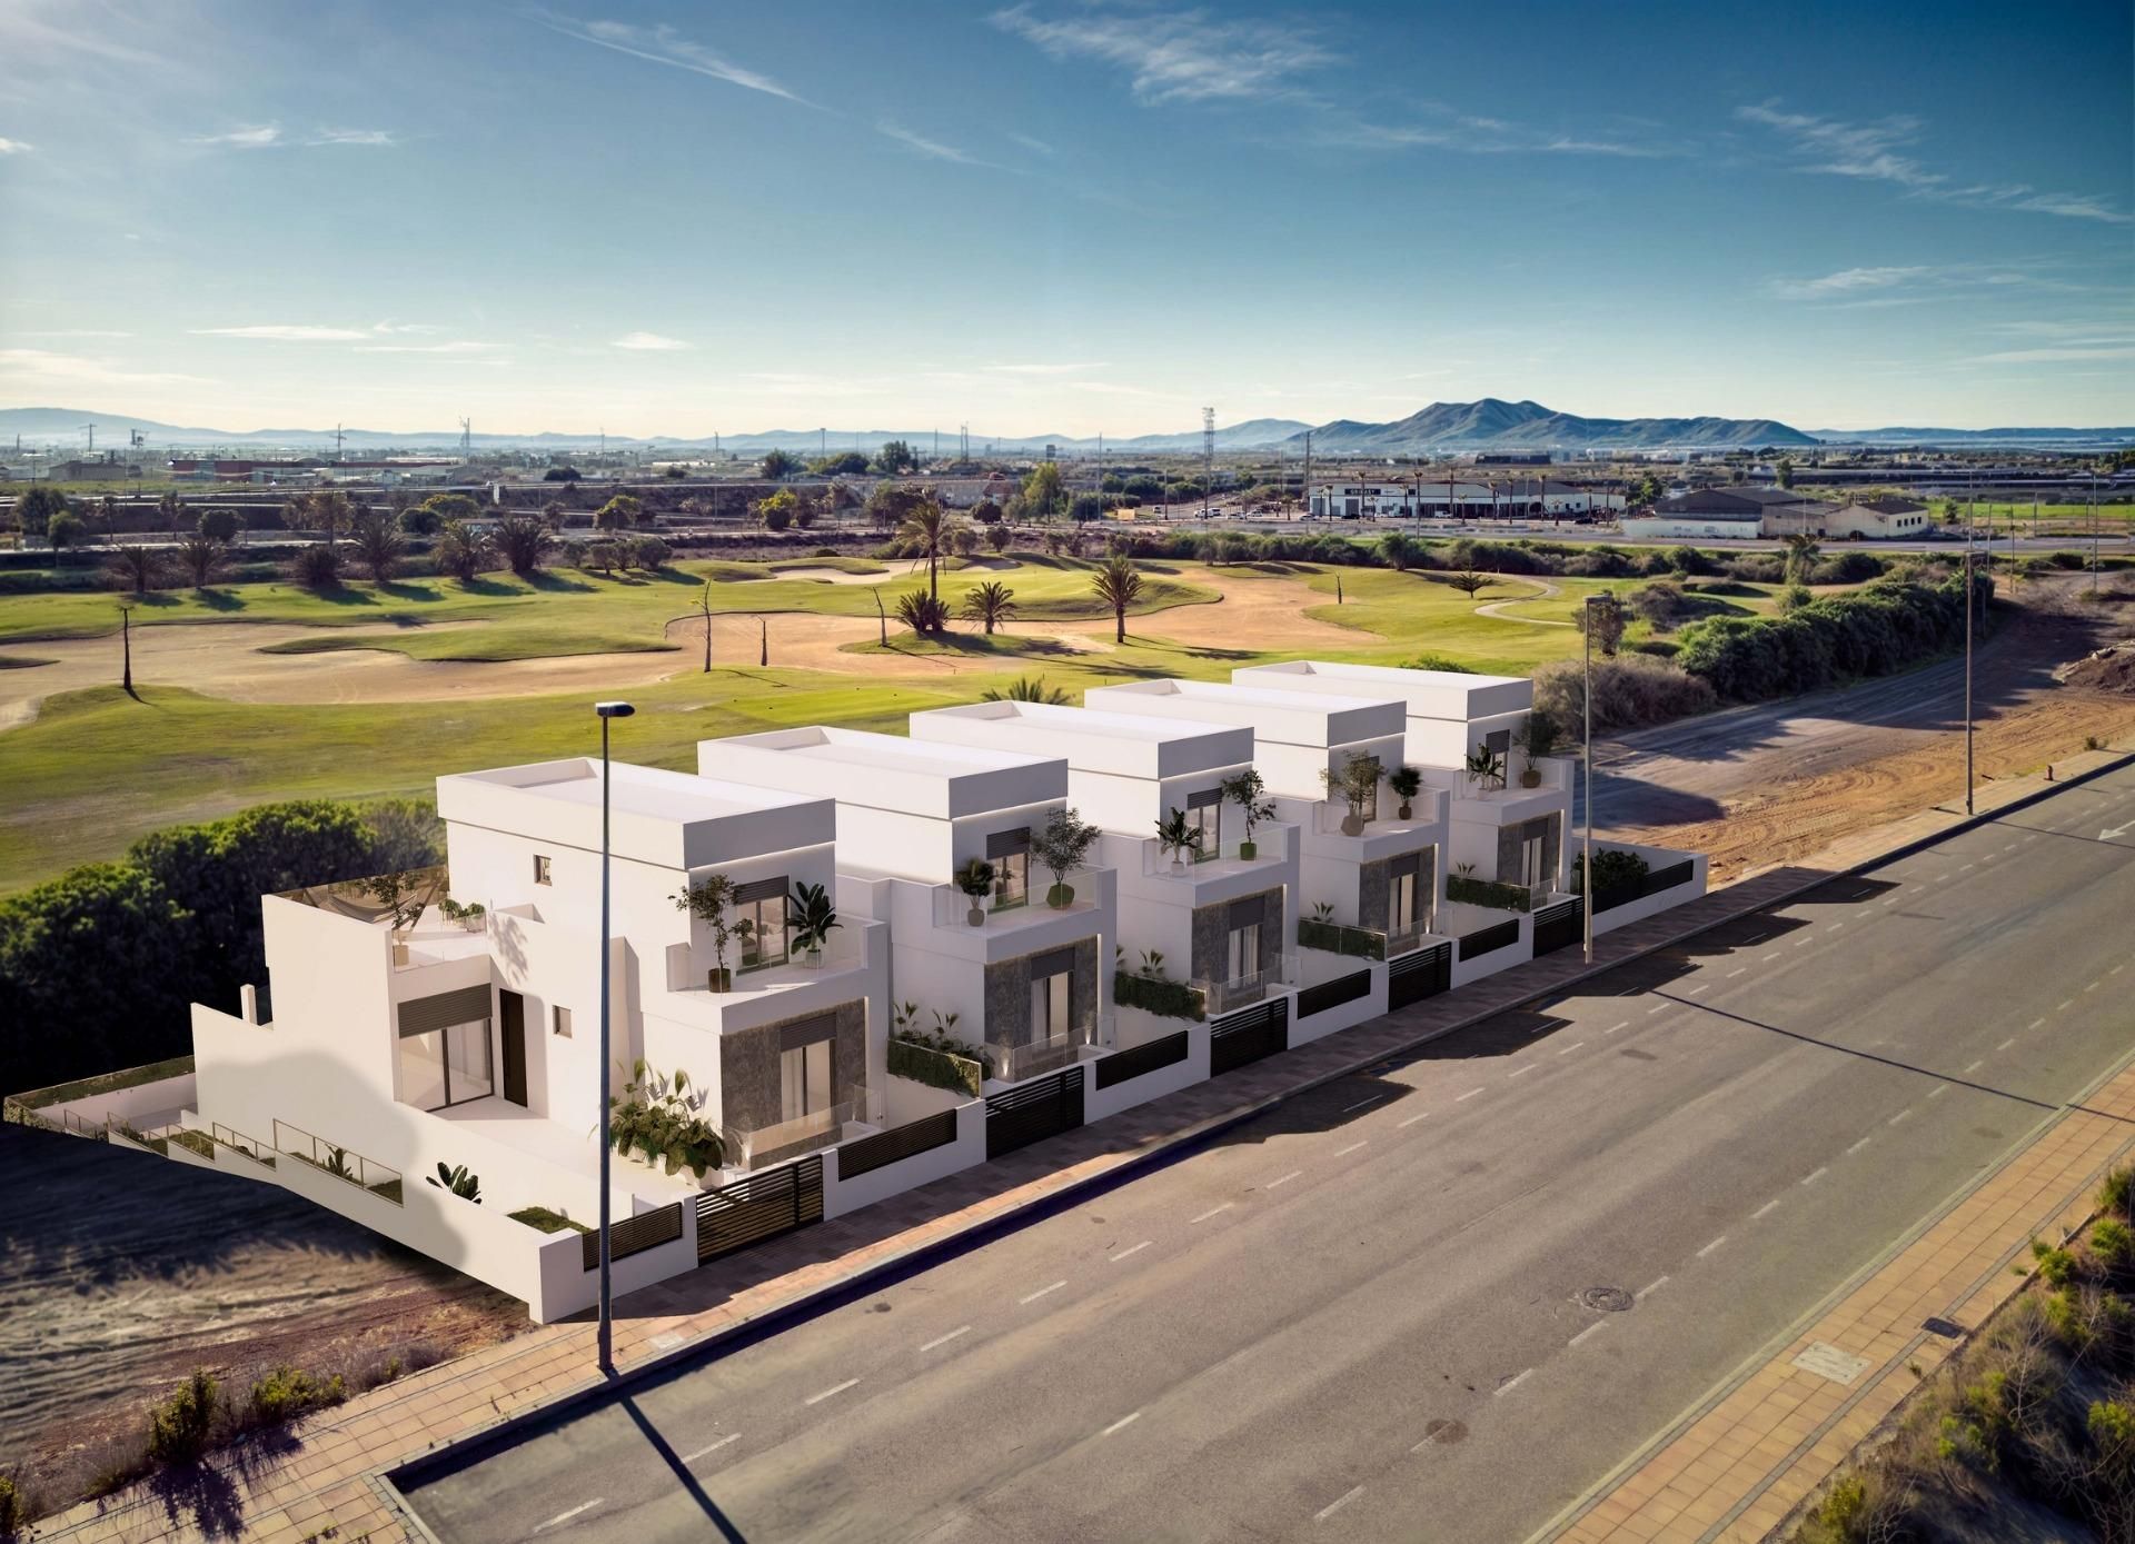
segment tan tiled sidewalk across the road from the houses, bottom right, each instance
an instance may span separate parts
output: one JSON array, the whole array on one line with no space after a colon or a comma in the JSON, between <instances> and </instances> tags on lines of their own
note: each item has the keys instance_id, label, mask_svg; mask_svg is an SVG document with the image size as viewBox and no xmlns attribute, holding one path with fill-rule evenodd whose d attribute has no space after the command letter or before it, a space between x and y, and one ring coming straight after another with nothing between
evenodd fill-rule
<instances>
[{"instance_id":1,"label":"tan tiled sidewalk across the road from the houses, bottom right","mask_svg":"<svg viewBox=\"0 0 2135 1544\"><path fill-rule=\"evenodd\" d=\"M1962 1341L1924 1322L1977 1330L2022 1290L2011 1262L2033 1239L2079 1226L2099 1179L2131 1151L2135 1070L2124 1070L2052 1117L2037 1140L1588 1510L1544 1533L1563 1544L1766 1538L1919 1386L1913 1367L1926 1377L1956 1354ZM1802 1358L1853 1375L1838 1382Z\"/></svg>"}]
</instances>

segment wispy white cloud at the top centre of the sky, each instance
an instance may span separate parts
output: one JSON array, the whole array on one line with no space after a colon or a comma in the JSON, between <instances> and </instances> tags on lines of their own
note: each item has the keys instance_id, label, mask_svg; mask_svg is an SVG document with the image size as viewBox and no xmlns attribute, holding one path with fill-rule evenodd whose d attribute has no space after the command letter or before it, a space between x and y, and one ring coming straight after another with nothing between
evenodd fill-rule
<instances>
[{"instance_id":1,"label":"wispy white cloud at the top centre of the sky","mask_svg":"<svg viewBox=\"0 0 2135 1544\"><path fill-rule=\"evenodd\" d=\"M1144 103L1275 96L1300 75L1337 62L1304 28L1219 21L1208 11L1082 13L1048 21L1018 4L989 19L1057 60L1117 64Z\"/></svg>"}]
</instances>

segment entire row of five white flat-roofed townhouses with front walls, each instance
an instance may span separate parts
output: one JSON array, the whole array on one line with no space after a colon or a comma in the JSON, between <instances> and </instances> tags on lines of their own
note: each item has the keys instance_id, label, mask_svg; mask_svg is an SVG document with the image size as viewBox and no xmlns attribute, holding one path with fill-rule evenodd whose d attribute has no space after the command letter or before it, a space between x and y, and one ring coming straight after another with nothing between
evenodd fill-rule
<instances>
[{"instance_id":1,"label":"entire row of five white flat-roofed townhouses with front walls","mask_svg":"<svg viewBox=\"0 0 2135 1544\"><path fill-rule=\"evenodd\" d=\"M271 1014L194 1006L190 1076L79 1117L551 1320L596 1292L604 1098L623 1292L1576 948L1531 692L1294 662L617 762L606 944L600 762L446 775L444 869L263 897ZM1704 893L1631 852L1597 931Z\"/></svg>"}]
</instances>

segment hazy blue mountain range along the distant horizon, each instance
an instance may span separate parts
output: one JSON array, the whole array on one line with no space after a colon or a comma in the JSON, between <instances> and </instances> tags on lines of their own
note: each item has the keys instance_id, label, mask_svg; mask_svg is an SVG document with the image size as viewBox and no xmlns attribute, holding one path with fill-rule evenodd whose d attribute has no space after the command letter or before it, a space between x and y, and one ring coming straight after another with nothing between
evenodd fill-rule
<instances>
[{"instance_id":1,"label":"hazy blue mountain range along the distant horizon","mask_svg":"<svg viewBox=\"0 0 2135 1544\"><path fill-rule=\"evenodd\" d=\"M263 446L280 451L316 451L333 446L333 429L203 429L158 423L154 419L132 419L126 414L98 414L83 408L0 408L0 436L21 436L38 446L79 446L83 425L94 423L107 444L141 434L158 446L235 451L239 446ZM1217 429L1217 451L1283 451L1302 455L1311 436L1315 455L1441 455L1450 451L1663 451L1663 448L1734 448L1734 446L1810 446L1823 442L1838 444L2005 444L2005 446L2047 446L2047 444L2126 444L2135 442L2135 429L1819 429L1804 434L1776 419L1586 419L1576 412L1556 412L1539 401L1503 401L1484 397L1482 401L1433 401L1420 412L1392 423L1360 423L1356 419L1334 419L1332 423L1298 423L1296 419L1249 419ZM342 446L352 451L448 451L459 444L457 429L344 429ZM907 440L922 453L935 444L933 429L764 429L760 434L724 434L717 444L726 451L764 453L790 451L813 455L818 451L880 451L888 440ZM542 448L542 451L589 451L598 444L608 448L670 451L711 446L713 436L598 436L598 434L474 434L470 444L495 448ZM971 446L993 446L997 451L1038 451L1044 446L1059 451L1095 453L1095 438L1065 434L1025 436L971 436ZM1200 434L1144 434L1129 440L1104 440L1108 457L1132 457L1136 453L1196 453L1202 448Z\"/></svg>"}]
</instances>

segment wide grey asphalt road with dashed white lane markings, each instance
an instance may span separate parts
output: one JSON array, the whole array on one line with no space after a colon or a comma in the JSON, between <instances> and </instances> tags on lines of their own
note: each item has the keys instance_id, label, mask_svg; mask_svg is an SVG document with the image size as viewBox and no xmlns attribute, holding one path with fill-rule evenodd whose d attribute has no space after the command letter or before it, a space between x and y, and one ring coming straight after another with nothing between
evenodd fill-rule
<instances>
[{"instance_id":1,"label":"wide grey asphalt road with dashed white lane markings","mask_svg":"<svg viewBox=\"0 0 2135 1544\"><path fill-rule=\"evenodd\" d=\"M2129 1053L2131 914L2120 771L1290 1100L416 1510L448 1544L1520 1540Z\"/></svg>"}]
</instances>

